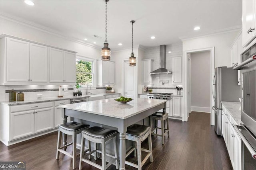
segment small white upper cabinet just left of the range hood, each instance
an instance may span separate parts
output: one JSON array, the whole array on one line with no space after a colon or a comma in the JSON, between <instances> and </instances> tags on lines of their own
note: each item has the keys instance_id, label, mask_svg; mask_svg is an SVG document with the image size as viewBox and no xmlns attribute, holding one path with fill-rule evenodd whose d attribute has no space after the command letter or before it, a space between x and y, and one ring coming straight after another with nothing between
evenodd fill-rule
<instances>
[{"instance_id":1,"label":"small white upper cabinet just left of the range hood","mask_svg":"<svg viewBox=\"0 0 256 170\"><path fill-rule=\"evenodd\" d=\"M143 67L143 83L152 83L152 78L150 76L150 72L153 70L153 59L144 59L142 60Z\"/></svg>"}]
</instances>

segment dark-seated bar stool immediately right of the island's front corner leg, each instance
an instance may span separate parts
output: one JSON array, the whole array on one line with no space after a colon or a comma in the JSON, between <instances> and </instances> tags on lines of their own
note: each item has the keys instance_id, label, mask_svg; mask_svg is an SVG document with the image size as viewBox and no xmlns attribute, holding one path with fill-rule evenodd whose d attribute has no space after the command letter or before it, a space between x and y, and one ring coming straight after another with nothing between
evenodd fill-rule
<instances>
[{"instance_id":1,"label":"dark-seated bar stool immediately right of the island's front corner leg","mask_svg":"<svg viewBox=\"0 0 256 170\"><path fill-rule=\"evenodd\" d=\"M148 138L148 149L141 148L141 143ZM153 162L152 155L152 139L151 139L151 127L144 125L131 125L127 128L125 139L136 142L135 147L129 150L125 157L131 154L134 151L134 156L136 156L136 149L138 150L138 164L134 164L132 162L125 161L125 164L138 168L138 170L142 169L142 166L145 164L146 160L150 157L150 162ZM136 147L137 146L137 147ZM142 155L141 152L148 152L146 157L141 161Z\"/></svg>"}]
</instances>

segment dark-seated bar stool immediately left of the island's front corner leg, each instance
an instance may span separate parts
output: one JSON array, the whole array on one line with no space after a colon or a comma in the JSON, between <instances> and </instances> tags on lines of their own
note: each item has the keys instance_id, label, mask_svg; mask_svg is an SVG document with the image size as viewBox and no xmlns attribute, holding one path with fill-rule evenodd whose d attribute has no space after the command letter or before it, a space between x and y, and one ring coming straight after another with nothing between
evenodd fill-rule
<instances>
[{"instance_id":1,"label":"dark-seated bar stool immediately left of the island's front corner leg","mask_svg":"<svg viewBox=\"0 0 256 170\"><path fill-rule=\"evenodd\" d=\"M84 150L80 151L80 160L79 160L79 170L82 170L82 161L86 162L96 168L106 170L111 164L114 162L116 163L116 169L118 169L118 157L117 157L117 148L116 148L116 130L110 130L98 126L90 127L88 129L83 130L82 132L82 139L81 139L81 147L84 147L85 140L88 140L89 144L89 153L84 155ZM114 154L115 156L112 156L110 154L106 153L106 142L113 139L114 143ZM91 142L94 142L94 150L91 151ZM97 150L96 143L101 143L101 151ZM91 154L94 153L94 159L97 158L97 152L101 153L101 160L102 164L101 166L90 161ZM89 159L86 159L84 157L88 156ZM113 158L112 160L108 161L109 163L106 164L106 156L109 156Z\"/></svg>"}]
</instances>

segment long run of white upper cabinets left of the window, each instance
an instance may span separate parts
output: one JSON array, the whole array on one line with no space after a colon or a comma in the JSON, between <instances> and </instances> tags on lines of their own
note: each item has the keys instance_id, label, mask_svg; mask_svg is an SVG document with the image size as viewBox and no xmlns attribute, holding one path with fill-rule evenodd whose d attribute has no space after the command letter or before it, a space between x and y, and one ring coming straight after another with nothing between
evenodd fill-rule
<instances>
[{"instance_id":1,"label":"long run of white upper cabinets left of the window","mask_svg":"<svg viewBox=\"0 0 256 170\"><path fill-rule=\"evenodd\" d=\"M1 85L53 84L52 82L58 84L76 82L74 51L65 51L27 39L1 35Z\"/></svg>"}]
</instances>

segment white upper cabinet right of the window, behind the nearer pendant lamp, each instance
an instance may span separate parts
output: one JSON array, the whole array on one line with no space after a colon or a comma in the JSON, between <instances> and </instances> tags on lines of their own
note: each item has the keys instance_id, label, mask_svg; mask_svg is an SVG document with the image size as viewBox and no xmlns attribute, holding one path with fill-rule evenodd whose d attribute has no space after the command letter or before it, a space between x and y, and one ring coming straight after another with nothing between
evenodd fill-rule
<instances>
[{"instance_id":1,"label":"white upper cabinet right of the window, behind the nearer pendant lamp","mask_svg":"<svg viewBox=\"0 0 256 170\"><path fill-rule=\"evenodd\" d=\"M115 83L115 62L97 60L98 85Z\"/></svg>"}]
</instances>

